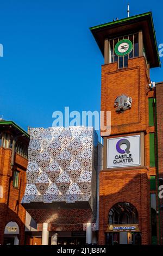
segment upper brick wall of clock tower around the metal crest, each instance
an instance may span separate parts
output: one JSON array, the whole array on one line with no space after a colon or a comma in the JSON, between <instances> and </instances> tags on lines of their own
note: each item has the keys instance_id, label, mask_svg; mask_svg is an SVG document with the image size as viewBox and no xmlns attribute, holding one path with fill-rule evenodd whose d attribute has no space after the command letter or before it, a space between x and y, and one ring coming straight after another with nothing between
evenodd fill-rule
<instances>
[{"instance_id":1,"label":"upper brick wall of clock tower around the metal crest","mask_svg":"<svg viewBox=\"0 0 163 256\"><path fill-rule=\"evenodd\" d=\"M128 60L126 69L117 69L117 63L102 66L101 111L111 111L111 135L147 129L148 83L144 57ZM114 101L121 94L132 97L133 104L130 110L117 114Z\"/></svg>"}]
</instances>

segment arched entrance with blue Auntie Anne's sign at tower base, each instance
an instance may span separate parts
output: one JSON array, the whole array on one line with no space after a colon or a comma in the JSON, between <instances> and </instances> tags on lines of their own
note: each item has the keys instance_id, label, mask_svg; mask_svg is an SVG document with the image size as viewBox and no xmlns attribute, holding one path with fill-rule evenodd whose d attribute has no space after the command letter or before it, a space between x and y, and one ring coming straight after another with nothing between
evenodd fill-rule
<instances>
[{"instance_id":1,"label":"arched entrance with blue Auntie Anne's sign at tower base","mask_svg":"<svg viewBox=\"0 0 163 256\"><path fill-rule=\"evenodd\" d=\"M119 202L109 211L106 245L118 244L141 244L138 212L127 202Z\"/></svg>"}]
</instances>

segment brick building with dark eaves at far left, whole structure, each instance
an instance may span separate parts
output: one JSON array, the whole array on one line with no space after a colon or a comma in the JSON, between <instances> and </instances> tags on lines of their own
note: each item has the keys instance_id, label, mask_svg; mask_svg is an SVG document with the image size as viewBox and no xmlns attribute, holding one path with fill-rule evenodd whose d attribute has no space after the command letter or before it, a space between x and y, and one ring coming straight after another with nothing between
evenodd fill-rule
<instances>
[{"instance_id":1,"label":"brick building with dark eaves at far left, whole structure","mask_svg":"<svg viewBox=\"0 0 163 256\"><path fill-rule=\"evenodd\" d=\"M29 135L13 121L0 121L0 244L24 245Z\"/></svg>"}]
</instances>

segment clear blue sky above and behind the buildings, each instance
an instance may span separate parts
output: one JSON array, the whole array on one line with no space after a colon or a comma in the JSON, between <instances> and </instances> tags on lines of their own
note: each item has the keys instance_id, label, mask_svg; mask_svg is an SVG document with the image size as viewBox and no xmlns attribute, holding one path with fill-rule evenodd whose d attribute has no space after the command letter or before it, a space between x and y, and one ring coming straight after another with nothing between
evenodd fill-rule
<instances>
[{"instance_id":1,"label":"clear blue sky above and behind the buildings","mask_svg":"<svg viewBox=\"0 0 163 256\"><path fill-rule=\"evenodd\" d=\"M162 1L0 1L0 115L23 129L52 126L54 111L100 111L104 63L89 27L152 11L163 44ZM161 60L163 57L161 58ZM163 81L162 68L151 70Z\"/></svg>"}]
</instances>

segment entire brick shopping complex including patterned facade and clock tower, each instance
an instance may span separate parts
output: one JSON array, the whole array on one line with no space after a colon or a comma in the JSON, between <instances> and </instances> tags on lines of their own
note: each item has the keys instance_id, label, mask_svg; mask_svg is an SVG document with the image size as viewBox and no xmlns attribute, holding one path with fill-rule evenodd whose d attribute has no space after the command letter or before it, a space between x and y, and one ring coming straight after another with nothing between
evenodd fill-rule
<instances>
[{"instance_id":1,"label":"entire brick shopping complex including patterned facade and clock tower","mask_svg":"<svg viewBox=\"0 0 163 256\"><path fill-rule=\"evenodd\" d=\"M150 78L160 66L152 14L91 32L104 56L106 127L111 112L111 130L101 130L104 147L93 127L31 129L25 191L29 135L1 121L0 243L162 243L163 83L155 87Z\"/></svg>"}]
</instances>

